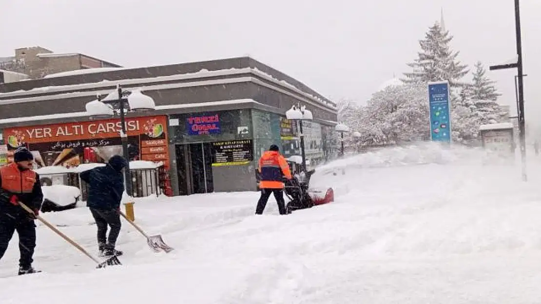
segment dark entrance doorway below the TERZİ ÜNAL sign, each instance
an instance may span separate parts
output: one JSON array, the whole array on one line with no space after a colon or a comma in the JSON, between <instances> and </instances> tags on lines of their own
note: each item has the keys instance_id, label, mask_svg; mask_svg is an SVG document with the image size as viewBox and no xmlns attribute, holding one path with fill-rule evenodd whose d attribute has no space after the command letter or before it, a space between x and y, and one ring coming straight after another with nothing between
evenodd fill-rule
<instances>
[{"instance_id":1,"label":"dark entrance doorway below the TERZ\u0130 \u00dcNAL sign","mask_svg":"<svg viewBox=\"0 0 541 304\"><path fill-rule=\"evenodd\" d=\"M179 194L214 192L212 178L212 144L177 145Z\"/></svg>"}]
</instances>

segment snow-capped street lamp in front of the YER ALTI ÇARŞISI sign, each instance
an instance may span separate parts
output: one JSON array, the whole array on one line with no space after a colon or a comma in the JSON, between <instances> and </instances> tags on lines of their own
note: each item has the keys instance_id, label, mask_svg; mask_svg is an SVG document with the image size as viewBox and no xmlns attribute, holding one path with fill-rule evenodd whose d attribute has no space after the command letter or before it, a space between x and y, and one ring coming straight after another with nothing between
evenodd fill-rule
<instances>
[{"instance_id":1,"label":"snow-capped street lamp in front of the YER ALTI \u00c7AR\u015eISI sign","mask_svg":"<svg viewBox=\"0 0 541 304\"><path fill-rule=\"evenodd\" d=\"M123 91L120 84L117 84L116 91L111 92L105 98L98 96L97 100L87 104L87 112L93 117L110 117L115 115L115 110L120 112L120 138L122 140L122 154L127 161L124 168L124 183L126 183L126 193L133 195L131 189L130 160L128 153L128 133L126 131L126 112L148 112L155 109L154 100L141 91L134 90Z\"/></svg>"}]
</instances>

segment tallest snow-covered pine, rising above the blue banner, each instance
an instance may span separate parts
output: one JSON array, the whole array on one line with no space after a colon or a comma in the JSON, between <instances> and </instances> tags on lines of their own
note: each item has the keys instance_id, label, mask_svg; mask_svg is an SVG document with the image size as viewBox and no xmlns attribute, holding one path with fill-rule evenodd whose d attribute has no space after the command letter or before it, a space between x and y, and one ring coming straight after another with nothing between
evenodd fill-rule
<instances>
[{"instance_id":1,"label":"tallest snow-covered pine, rising above the blue banner","mask_svg":"<svg viewBox=\"0 0 541 304\"><path fill-rule=\"evenodd\" d=\"M421 51L418 52L418 58L408 64L413 71L404 73L406 78L401 80L406 84L448 80L452 87L462 86L460 79L469 70L467 65L457 60L459 52L451 50L452 39L448 31L441 30L438 22L431 26L425 39L419 40Z\"/></svg>"}]
</instances>

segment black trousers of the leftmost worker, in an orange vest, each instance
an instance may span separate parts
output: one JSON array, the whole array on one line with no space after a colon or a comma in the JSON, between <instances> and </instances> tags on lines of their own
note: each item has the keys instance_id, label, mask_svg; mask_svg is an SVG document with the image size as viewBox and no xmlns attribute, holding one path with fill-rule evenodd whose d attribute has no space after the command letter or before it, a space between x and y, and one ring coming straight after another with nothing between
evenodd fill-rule
<instances>
[{"instance_id":1,"label":"black trousers of the leftmost worker, in an orange vest","mask_svg":"<svg viewBox=\"0 0 541 304\"><path fill-rule=\"evenodd\" d=\"M9 241L15 231L19 235L19 252L21 253L19 266L28 269L34 261L32 256L36 248L36 224L22 208L14 212L0 210L0 259L8 249Z\"/></svg>"}]
</instances>

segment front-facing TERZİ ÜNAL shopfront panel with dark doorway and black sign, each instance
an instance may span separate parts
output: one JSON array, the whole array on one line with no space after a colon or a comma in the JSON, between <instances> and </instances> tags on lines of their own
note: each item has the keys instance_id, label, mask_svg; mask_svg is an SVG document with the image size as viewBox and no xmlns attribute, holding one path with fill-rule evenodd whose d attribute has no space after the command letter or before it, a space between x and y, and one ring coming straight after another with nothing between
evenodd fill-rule
<instances>
[{"instance_id":1,"label":"front-facing TERZ\u0130 \u00dcNAL shopfront panel with dark doorway and black sign","mask_svg":"<svg viewBox=\"0 0 541 304\"><path fill-rule=\"evenodd\" d=\"M179 194L255 188L250 110L175 114L169 125Z\"/></svg>"}]
</instances>

